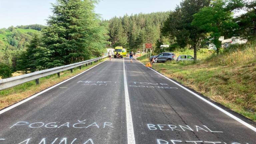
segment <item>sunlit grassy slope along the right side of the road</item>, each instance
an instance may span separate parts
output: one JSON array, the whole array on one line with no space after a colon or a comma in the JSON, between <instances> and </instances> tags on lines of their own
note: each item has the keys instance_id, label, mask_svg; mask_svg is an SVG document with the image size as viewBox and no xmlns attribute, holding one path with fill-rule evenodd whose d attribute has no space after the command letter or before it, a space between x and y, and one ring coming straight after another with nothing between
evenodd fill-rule
<instances>
[{"instance_id":1,"label":"sunlit grassy slope along the right side of the road","mask_svg":"<svg viewBox=\"0 0 256 144\"><path fill-rule=\"evenodd\" d=\"M198 58L196 64L172 61L153 68L256 122L256 42L230 47L220 55L201 50ZM148 62L145 56L137 59Z\"/></svg>"}]
</instances>

